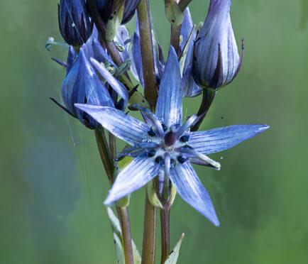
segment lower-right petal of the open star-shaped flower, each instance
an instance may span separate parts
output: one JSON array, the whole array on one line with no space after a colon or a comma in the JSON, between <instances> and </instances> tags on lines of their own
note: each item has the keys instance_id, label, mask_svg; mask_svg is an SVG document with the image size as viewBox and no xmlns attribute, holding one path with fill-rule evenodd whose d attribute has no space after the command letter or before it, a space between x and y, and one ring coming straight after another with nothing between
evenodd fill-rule
<instances>
[{"instance_id":1,"label":"lower-right petal of the open star-shaped flower","mask_svg":"<svg viewBox=\"0 0 308 264\"><path fill-rule=\"evenodd\" d=\"M170 170L170 180L185 202L207 217L215 226L219 226L211 198L192 165L189 163L177 164Z\"/></svg>"}]
</instances>

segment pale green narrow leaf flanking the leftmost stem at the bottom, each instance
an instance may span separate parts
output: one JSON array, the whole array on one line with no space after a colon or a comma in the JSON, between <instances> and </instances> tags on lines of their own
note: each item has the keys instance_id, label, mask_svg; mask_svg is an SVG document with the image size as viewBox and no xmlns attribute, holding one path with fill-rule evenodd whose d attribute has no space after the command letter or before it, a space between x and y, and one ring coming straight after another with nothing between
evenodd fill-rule
<instances>
[{"instance_id":1,"label":"pale green narrow leaf flanking the leftmost stem at the bottom","mask_svg":"<svg viewBox=\"0 0 308 264\"><path fill-rule=\"evenodd\" d=\"M116 258L118 259L118 263L124 263L124 256L123 256L123 238L121 232L120 221L114 214L114 211L110 207L107 208L107 214L109 216L109 220L111 222L112 231L114 232L114 246L116 247ZM136 244L131 240L132 247L133 247L133 263L134 264L141 264L141 255L136 247Z\"/></svg>"}]
</instances>

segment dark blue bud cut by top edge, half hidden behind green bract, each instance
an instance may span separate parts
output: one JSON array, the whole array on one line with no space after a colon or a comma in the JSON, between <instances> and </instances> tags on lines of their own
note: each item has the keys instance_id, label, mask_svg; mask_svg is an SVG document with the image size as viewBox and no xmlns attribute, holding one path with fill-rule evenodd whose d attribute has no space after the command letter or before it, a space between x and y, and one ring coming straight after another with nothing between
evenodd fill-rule
<instances>
[{"instance_id":1,"label":"dark blue bud cut by top edge, half hidden behind green bract","mask_svg":"<svg viewBox=\"0 0 308 264\"><path fill-rule=\"evenodd\" d=\"M122 17L122 24L126 24L133 18L136 8L141 0L125 0L125 6ZM96 0L97 8L101 14L101 18L104 23L107 23L111 18L116 5L119 4L119 0ZM111 18L112 19L112 18Z\"/></svg>"}]
</instances>

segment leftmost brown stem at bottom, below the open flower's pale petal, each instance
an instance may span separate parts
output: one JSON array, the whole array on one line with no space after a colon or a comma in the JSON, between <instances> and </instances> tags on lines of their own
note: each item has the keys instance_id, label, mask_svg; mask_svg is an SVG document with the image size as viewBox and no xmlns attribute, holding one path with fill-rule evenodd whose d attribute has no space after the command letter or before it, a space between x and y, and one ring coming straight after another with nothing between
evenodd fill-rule
<instances>
[{"instance_id":1,"label":"leftmost brown stem at bottom, below the open flower's pale petal","mask_svg":"<svg viewBox=\"0 0 308 264\"><path fill-rule=\"evenodd\" d=\"M131 226L127 207L116 207L121 224L125 264L133 264L133 247L131 246Z\"/></svg>"}]
</instances>

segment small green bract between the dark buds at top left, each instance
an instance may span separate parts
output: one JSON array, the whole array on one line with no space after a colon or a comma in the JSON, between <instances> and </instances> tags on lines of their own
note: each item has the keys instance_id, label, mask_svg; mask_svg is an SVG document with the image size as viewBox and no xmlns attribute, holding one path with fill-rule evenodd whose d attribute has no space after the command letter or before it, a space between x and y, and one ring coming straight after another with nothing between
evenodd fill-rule
<instances>
[{"instance_id":1,"label":"small green bract between the dark buds at top left","mask_svg":"<svg viewBox=\"0 0 308 264\"><path fill-rule=\"evenodd\" d=\"M121 21L124 11L124 0L115 1L114 8L112 9L111 15L108 18L106 25L106 40L111 42L114 40L119 27L121 26Z\"/></svg>"}]
</instances>

